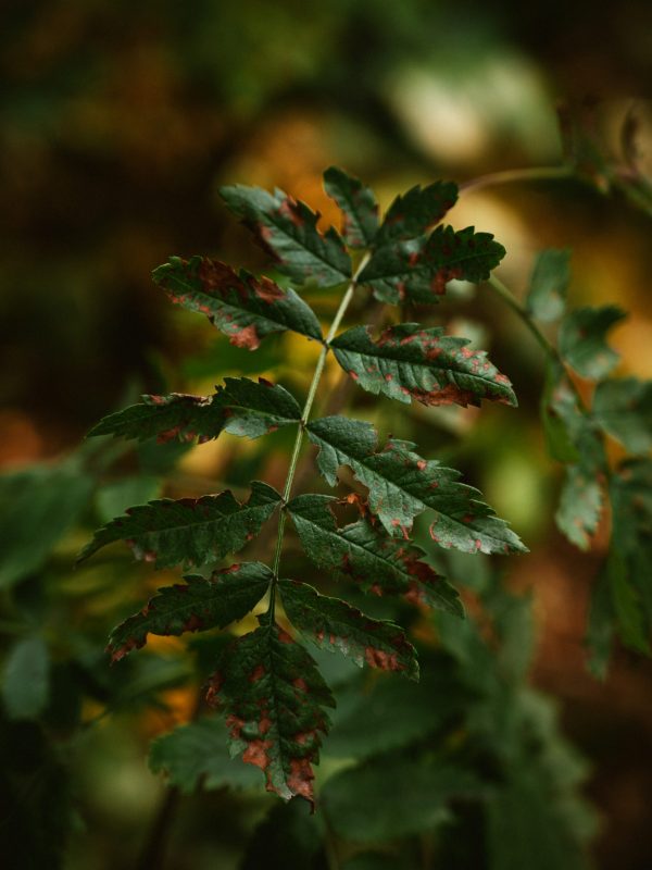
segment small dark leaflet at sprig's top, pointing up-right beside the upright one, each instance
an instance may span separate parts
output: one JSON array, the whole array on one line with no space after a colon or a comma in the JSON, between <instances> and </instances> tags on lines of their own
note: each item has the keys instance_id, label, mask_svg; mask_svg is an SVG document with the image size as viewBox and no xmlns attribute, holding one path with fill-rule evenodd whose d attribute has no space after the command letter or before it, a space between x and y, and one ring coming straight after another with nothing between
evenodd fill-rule
<instances>
[{"instance_id":1,"label":"small dark leaflet at sprig's top, pointing up-right beside the upright one","mask_svg":"<svg viewBox=\"0 0 652 870\"><path fill-rule=\"evenodd\" d=\"M427 187L416 185L406 194L400 194L385 214L375 239L376 247L423 236L456 201L457 185L452 182L435 182Z\"/></svg>"}]
</instances>

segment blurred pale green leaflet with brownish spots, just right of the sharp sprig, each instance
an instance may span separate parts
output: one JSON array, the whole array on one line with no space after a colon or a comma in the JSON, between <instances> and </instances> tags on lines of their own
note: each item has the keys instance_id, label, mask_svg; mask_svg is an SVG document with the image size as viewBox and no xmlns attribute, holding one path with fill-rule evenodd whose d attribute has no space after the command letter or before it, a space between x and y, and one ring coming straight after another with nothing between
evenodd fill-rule
<instances>
[{"instance_id":1,"label":"blurred pale green leaflet with brownish spots, just right of the sharp sprig","mask_svg":"<svg viewBox=\"0 0 652 870\"><path fill-rule=\"evenodd\" d=\"M582 465L568 465L554 514L557 527L580 550L589 548L589 538L595 532L604 494L594 472Z\"/></svg>"}]
</instances>

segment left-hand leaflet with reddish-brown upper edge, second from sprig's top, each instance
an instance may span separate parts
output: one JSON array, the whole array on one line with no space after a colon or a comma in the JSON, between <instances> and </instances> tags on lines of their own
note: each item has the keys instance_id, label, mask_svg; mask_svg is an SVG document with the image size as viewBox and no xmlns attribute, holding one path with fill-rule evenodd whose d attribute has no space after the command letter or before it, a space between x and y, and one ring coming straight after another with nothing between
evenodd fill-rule
<instances>
[{"instance_id":1,"label":"left-hand leaflet with reddish-brown upper edge, second from sprig's top","mask_svg":"<svg viewBox=\"0 0 652 870\"><path fill-rule=\"evenodd\" d=\"M255 350L266 335L286 330L322 339L315 313L294 290L218 260L171 257L153 278L171 301L205 314L237 347Z\"/></svg>"}]
</instances>

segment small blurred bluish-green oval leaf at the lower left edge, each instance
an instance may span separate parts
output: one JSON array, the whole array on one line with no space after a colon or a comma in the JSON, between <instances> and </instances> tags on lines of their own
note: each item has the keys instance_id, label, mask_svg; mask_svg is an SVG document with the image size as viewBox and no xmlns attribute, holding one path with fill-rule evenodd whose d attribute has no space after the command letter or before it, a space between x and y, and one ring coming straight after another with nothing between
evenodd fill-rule
<instances>
[{"instance_id":1,"label":"small blurred bluish-green oval leaf at the lower left edge","mask_svg":"<svg viewBox=\"0 0 652 870\"><path fill-rule=\"evenodd\" d=\"M2 674L2 704L10 720L37 719L50 699L50 651L42 637L11 647Z\"/></svg>"}]
</instances>

